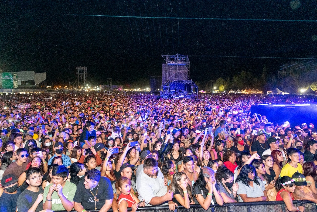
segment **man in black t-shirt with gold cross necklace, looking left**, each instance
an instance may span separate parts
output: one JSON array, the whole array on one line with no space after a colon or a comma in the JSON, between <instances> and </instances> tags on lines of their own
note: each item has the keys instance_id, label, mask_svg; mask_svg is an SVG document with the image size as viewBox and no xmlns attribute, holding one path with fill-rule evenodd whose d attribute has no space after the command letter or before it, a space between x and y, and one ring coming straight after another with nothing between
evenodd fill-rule
<instances>
[{"instance_id":1,"label":"man in black t-shirt with gold cross necklace, looking left","mask_svg":"<svg viewBox=\"0 0 317 212\"><path fill-rule=\"evenodd\" d=\"M113 189L107 177L101 177L97 169L87 170L85 180L77 185L74 209L82 211L108 211L113 201Z\"/></svg>"}]
</instances>

